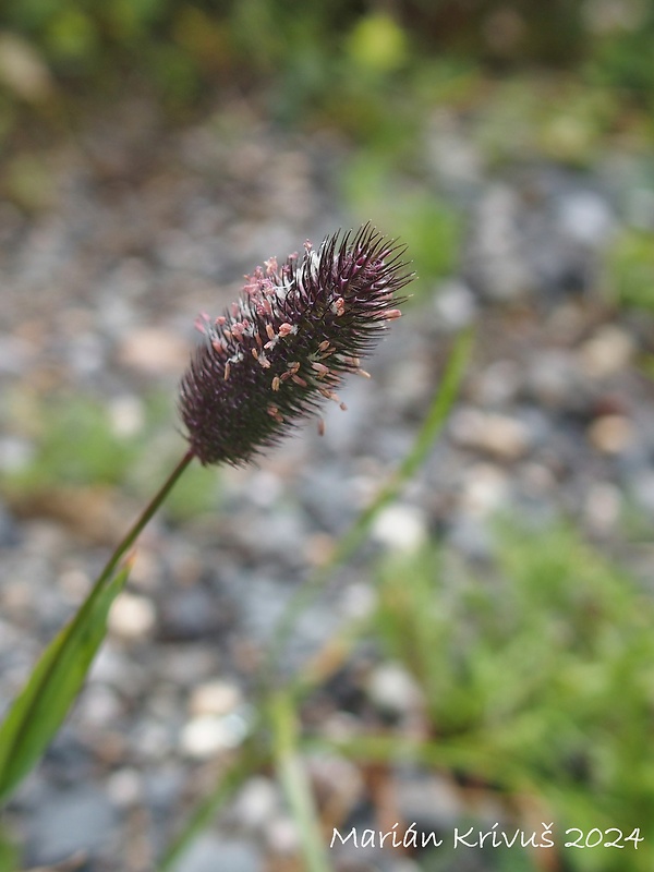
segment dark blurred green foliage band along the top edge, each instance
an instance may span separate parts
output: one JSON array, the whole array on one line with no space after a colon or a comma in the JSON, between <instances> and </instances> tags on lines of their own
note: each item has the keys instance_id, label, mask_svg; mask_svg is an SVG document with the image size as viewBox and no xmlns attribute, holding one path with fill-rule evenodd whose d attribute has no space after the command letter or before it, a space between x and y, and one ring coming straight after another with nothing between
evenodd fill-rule
<instances>
[{"instance_id":1,"label":"dark blurred green foliage band along the top edge","mask_svg":"<svg viewBox=\"0 0 654 872\"><path fill-rule=\"evenodd\" d=\"M352 88L384 96L389 82L434 58L468 58L500 73L573 69L652 105L654 0L400 0L392 9L361 0L21 0L0 11L0 34L19 40L11 51L0 44L0 78L21 94L7 68L21 68L14 49L23 46L22 60L43 64L59 88L92 97L141 82L185 105L207 87L264 85L282 114L312 114Z\"/></svg>"}]
</instances>

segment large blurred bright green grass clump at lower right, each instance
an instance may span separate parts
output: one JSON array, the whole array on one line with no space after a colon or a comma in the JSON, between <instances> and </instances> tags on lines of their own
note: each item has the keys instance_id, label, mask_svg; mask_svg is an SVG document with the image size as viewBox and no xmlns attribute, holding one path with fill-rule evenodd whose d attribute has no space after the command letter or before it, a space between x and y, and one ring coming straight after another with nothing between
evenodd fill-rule
<instances>
[{"instance_id":1,"label":"large blurred bright green grass clump at lower right","mask_svg":"<svg viewBox=\"0 0 654 872\"><path fill-rule=\"evenodd\" d=\"M572 826L645 838L568 850L567 869L652 869L651 593L562 524L498 543L483 573L435 546L386 559L373 633L422 689L436 760L538 797L559 846Z\"/></svg>"}]
</instances>

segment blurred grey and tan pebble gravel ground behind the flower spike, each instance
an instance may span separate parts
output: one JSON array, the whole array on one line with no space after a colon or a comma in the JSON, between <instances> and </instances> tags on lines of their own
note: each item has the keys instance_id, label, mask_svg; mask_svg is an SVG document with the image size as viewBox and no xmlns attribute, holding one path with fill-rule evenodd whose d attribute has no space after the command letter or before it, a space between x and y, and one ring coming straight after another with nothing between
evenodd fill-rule
<instances>
[{"instance_id":1,"label":"blurred grey and tan pebble gravel ground behind the flower spike","mask_svg":"<svg viewBox=\"0 0 654 872\"><path fill-rule=\"evenodd\" d=\"M349 411L329 411L324 437L307 424L258 468L225 471L215 514L153 522L88 687L5 818L26 865L83 851L80 868L93 872L153 868L175 815L247 730L284 603L408 450L460 328L477 327L463 395L419 480L378 519L378 547L438 533L483 558L488 518L509 508L534 523L562 510L620 550L626 507L653 520L654 389L637 366L654 352L652 319L617 315L601 293L602 252L629 211L630 166L606 158L588 172L535 162L492 172L464 128L448 128L447 148L438 130L426 184L465 204L459 274L393 324L367 367L373 379L342 391ZM468 162L452 161L457 145ZM122 432L137 426L146 391L169 391L181 453L174 388L196 313L218 313L270 254L349 223L332 193L346 150L331 135L275 132L238 107L229 121L170 133L140 104L52 148L40 207L0 204L4 472L34 452L11 410L47 395L90 393ZM129 494L92 483L0 502L0 700L137 510ZM641 569L649 556L643 548ZM287 668L368 593L354 561L299 621ZM407 676L368 668L378 700L410 706ZM335 686L335 723L347 693ZM362 775L344 761L316 763L314 777L338 783L343 802L361 794ZM435 776L399 775L395 789L403 809L457 815L456 796ZM279 788L257 775L180 870L298 869L284 861L295 845ZM343 870L373 868L416 869L343 856Z\"/></svg>"}]
</instances>

